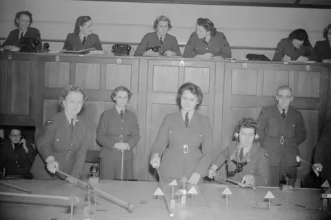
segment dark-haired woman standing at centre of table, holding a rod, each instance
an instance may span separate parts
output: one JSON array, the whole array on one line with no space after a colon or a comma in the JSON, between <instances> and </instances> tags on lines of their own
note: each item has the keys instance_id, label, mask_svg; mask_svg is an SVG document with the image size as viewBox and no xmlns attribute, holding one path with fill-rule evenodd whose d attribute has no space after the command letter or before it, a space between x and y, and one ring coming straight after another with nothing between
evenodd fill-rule
<instances>
[{"instance_id":1,"label":"dark-haired woman standing at centre of table, holding a rod","mask_svg":"<svg viewBox=\"0 0 331 220\"><path fill-rule=\"evenodd\" d=\"M177 92L179 112L163 119L150 164L160 168L160 178L165 181L186 177L191 184L197 184L207 175L213 139L210 120L197 112L202 100L198 86L184 83Z\"/></svg>"}]
</instances>

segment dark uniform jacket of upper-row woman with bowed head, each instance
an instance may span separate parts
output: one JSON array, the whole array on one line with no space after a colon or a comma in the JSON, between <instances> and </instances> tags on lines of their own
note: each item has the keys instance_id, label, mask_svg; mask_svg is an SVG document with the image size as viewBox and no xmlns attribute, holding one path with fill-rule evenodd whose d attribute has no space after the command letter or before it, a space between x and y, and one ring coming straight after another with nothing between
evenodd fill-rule
<instances>
[{"instance_id":1,"label":"dark uniform jacket of upper-row woman with bowed head","mask_svg":"<svg viewBox=\"0 0 331 220\"><path fill-rule=\"evenodd\" d=\"M299 57L307 57L310 61L317 61L314 48L311 45L302 45L299 49L294 48L292 39L284 38L278 43L274 58L272 61L282 61L283 57L287 55L291 57L292 61L296 61Z\"/></svg>"}]
</instances>

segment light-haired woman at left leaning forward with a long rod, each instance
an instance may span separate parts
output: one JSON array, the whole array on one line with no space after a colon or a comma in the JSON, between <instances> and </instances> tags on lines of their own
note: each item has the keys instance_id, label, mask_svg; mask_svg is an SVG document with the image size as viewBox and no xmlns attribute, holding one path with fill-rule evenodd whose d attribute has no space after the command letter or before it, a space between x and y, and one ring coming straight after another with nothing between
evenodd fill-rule
<instances>
[{"instance_id":1,"label":"light-haired woman at left leaning forward with a long rod","mask_svg":"<svg viewBox=\"0 0 331 220\"><path fill-rule=\"evenodd\" d=\"M83 174L88 149L87 134L78 114L86 99L83 90L78 86L68 86L63 90L59 99L61 112L46 121L37 137L39 154L30 170L34 178L62 179L61 175L54 174L58 169L75 178L80 178ZM74 183L70 178L66 181Z\"/></svg>"}]
</instances>

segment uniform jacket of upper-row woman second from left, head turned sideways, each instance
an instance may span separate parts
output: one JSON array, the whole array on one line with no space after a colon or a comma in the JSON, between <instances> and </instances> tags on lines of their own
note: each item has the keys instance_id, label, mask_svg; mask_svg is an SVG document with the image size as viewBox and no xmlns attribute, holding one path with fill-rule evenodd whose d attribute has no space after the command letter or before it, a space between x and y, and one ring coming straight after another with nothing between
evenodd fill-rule
<instances>
[{"instance_id":1,"label":"uniform jacket of upper-row woman second from left, head turned sideways","mask_svg":"<svg viewBox=\"0 0 331 220\"><path fill-rule=\"evenodd\" d=\"M90 34L86 37L84 45L79 38L79 34L68 34L66 41L64 42L63 49L65 50L83 50L95 48L96 50L102 50L101 42L97 34Z\"/></svg>"}]
</instances>

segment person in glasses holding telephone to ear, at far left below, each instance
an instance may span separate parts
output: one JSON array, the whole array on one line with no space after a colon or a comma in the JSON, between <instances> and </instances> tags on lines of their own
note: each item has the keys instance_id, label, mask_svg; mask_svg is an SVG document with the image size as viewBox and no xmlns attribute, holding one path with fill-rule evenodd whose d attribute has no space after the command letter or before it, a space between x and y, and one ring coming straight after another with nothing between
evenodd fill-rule
<instances>
[{"instance_id":1,"label":"person in glasses holding telephone to ear, at far left below","mask_svg":"<svg viewBox=\"0 0 331 220\"><path fill-rule=\"evenodd\" d=\"M0 172L6 176L30 176L30 168L36 152L29 145L19 129L11 129L9 139L3 141L0 151Z\"/></svg>"}]
</instances>

